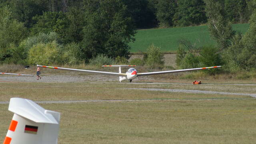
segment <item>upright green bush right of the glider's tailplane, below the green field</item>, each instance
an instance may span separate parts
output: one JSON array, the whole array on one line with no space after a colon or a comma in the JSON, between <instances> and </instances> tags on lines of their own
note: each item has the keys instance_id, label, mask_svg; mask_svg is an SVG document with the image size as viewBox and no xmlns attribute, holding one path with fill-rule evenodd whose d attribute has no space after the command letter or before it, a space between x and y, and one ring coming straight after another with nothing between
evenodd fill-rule
<instances>
[{"instance_id":1,"label":"upright green bush right of the glider's tailplane, below the green field","mask_svg":"<svg viewBox=\"0 0 256 144\"><path fill-rule=\"evenodd\" d=\"M164 54L160 51L160 47L150 45L147 49L146 64L150 68L163 68Z\"/></svg>"}]
</instances>

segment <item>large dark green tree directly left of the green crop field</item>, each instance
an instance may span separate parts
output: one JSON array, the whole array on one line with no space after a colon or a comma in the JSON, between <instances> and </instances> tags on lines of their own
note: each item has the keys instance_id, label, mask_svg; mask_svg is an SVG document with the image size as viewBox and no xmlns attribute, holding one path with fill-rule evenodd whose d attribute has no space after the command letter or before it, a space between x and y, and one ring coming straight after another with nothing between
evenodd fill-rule
<instances>
[{"instance_id":1,"label":"large dark green tree directly left of the green crop field","mask_svg":"<svg viewBox=\"0 0 256 144\"><path fill-rule=\"evenodd\" d=\"M82 47L84 56L129 57L128 42L134 40L134 26L121 0L88 0Z\"/></svg>"}]
</instances>

